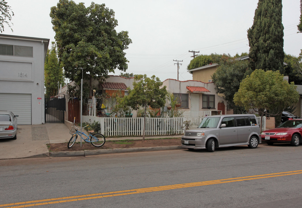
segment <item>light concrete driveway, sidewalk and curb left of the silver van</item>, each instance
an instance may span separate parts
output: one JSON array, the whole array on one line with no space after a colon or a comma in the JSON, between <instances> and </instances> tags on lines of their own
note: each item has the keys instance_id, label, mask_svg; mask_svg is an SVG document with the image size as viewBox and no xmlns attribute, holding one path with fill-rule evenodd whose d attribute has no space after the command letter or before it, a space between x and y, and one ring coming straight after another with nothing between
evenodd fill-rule
<instances>
[{"instance_id":1,"label":"light concrete driveway, sidewalk and curb left of the silver van","mask_svg":"<svg viewBox=\"0 0 302 208\"><path fill-rule=\"evenodd\" d=\"M15 159L15 158L31 158L31 157L64 157L64 156L85 156L93 154L115 153L113 150L90 150L75 151L75 152L49 152L47 145L49 143L68 142L71 135L69 128L63 123L46 123L41 125L18 125L17 139L2 139L0 140L0 159ZM164 138L164 137L180 137L177 136L153 136L146 138ZM106 138L106 140L121 140L121 139L142 139L142 137L123 137L123 138ZM106 143L105 143L106 145ZM163 147L160 148L145 148L141 151L178 149L180 147ZM128 148L127 150L117 150L116 152L140 151L137 148Z\"/></svg>"}]
</instances>

